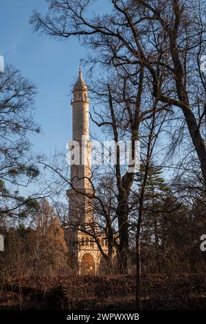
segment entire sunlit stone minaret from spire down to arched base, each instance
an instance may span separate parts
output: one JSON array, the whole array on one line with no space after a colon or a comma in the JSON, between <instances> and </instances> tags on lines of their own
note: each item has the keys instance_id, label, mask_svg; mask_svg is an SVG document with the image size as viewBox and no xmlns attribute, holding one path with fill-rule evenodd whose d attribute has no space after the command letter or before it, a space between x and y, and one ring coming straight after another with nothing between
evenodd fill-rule
<instances>
[{"instance_id":1,"label":"entire sunlit stone minaret from spire down to arched base","mask_svg":"<svg viewBox=\"0 0 206 324\"><path fill-rule=\"evenodd\" d=\"M72 123L73 139L71 150L71 188L67 190L69 199L69 224L65 226L65 239L69 254L74 256L72 265L77 265L79 274L98 274L102 254L108 252L106 236L99 232L93 219L93 188L91 185L91 148L89 141L89 99L87 85L79 77L73 88Z\"/></svg>"}]
</instances>

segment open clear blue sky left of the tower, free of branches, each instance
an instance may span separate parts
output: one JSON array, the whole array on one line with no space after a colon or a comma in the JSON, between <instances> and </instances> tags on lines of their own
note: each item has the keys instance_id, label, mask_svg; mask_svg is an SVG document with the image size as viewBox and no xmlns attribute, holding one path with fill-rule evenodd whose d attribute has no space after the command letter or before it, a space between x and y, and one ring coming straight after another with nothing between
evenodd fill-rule
<instances>
[{"instance_id":1,"label":"open clear blue sky left of the tower, free of branches","mask_svg":"<svg viewBox=\"0 0 206 324\"><path fill-rule=\"evenodd\" d=\"M65 149L71 139L71 84L85 50L77 38L58 41L32 32L30 15L34 9L45 13L46 1L0 1L0 55L38 87L35 120L43 134L31 137L33 150L52 154ZM97 2L94 9L105 10L107 1Z\"/></svg>"}]
</instances>

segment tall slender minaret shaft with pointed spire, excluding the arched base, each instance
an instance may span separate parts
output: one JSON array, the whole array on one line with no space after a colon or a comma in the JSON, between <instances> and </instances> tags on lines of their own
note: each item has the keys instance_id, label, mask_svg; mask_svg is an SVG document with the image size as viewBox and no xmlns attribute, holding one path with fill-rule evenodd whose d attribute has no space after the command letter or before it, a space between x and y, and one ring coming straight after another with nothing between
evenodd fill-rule
<instances>
[{"instance_id":1,"label":"tall slender minaret shaft with pointed spire, excluding the arched base","mask_svg":"<svg viewBox=\"0 0 206 324\"><path fill-rule=\"evenodd\" d=\"M87 85L82 79L82 70L73 87L71 151L71 189L69 198L69 223L89 227L93 223L91 189L91 141L89 141L89 99Z\"/></svg>"}]
</instances>

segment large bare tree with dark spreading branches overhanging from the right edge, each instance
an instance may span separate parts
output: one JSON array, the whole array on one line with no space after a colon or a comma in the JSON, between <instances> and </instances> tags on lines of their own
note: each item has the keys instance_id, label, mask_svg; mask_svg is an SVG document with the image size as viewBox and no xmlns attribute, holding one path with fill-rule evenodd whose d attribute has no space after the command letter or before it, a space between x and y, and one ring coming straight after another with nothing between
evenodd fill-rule
<instances>
[{"instance_id":1,"label":"large bare tree with dark spreading branches overhanging from the right edge","mask_svg":"<svg viewBox=\"0 0 206 324\"><path fill-rule=\"evenodd\" d=\"M95 50L93 62L139 65L150 74L153 96L183 114L206 183L205 1L112 0L111 12L89 17L93 1L49 1L31 23L53 37L78 36ZM102 54L104 51L104 54ZM202 96L202 94L204 94Z\"/></svg>"}]
</instances>

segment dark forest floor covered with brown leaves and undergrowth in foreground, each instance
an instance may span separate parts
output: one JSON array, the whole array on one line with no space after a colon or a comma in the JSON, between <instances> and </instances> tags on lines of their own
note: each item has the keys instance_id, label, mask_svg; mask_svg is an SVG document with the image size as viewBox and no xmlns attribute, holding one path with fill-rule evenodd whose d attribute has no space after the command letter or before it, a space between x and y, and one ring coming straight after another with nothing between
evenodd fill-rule
<instances>
[{"instance_id":1,"label":"dark forest floor covered with brown leaves and undergrowth in foreground","mask_svg":"<svg viewBox=\"0 0 206 324\"><path fill-rule=\"evenodd\" d=\"M205 273L142 276L141 308L205 309ZM135 276L0 279L0 310L134 309Z\"/></svg>"}]
</instances>

